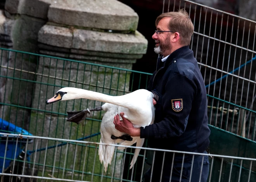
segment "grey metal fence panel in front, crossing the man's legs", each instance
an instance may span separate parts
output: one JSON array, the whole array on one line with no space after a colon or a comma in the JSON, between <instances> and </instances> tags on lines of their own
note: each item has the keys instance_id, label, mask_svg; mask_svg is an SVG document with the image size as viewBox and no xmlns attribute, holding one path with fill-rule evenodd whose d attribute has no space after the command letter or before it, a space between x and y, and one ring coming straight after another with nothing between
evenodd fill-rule
<instances>
[{"instance_id":1,"label":"grey metal fence panel in front, crossing the man's legs","mask_svg":"<svg viewBox=\"0 0 256 182\"><path fill-rule=\"evenodd\" d=\"M198 161L198 157L201 156L199 161L199 168L209 165L209 182L210 181L225 181L230 182L235 179L241 179L247 175L247 178L243 181L253 181L256 177L255 162L253 158L242 158L235 156L225 155L213 155L207 153L192 153L172 150L161 150L143 147L129 146L125 150L118 150L117 147L121 145L109 145L115 147L114 162L109 166L107 172L104 172L104 166L100 164L98 149L100 144L90 141L77 141L70 139L49 138L40 136L26 136L21 134L6 134L0 133L1 139L5 139L6 148L8 145L14 145L17 150L17 146L20 145L19 139L26 138L24 142L23 155L21 154L18 159L7 158L7 151L5 151L4 157L1 159L5 161L11 160L9 168L0 171L0 178L2 181L12 181L16 177L23 179L29 178L31 180L62 180L62 181L141 181L142 175L147 166L144 165L145 159L147 159L146 153L153 153L152 163L159 162L161 156L161 162L171 160L173 156L180 156L182 159L182 166L184 160L191 160L192 163ZM32 142L31 142L32 141ZM35 152L31 153L31 150L36 151L39 143L43 143L45 151L41 153L43 158L40 158L40 154ZM65 144L64 150L60 148L50 148L49 146L54 144ZM125 158L131 158L131 150L140 148L144 155L138 156L138 163L131 170L125 171L126 163ZM54 155L47 157L50 150L54 151ZM69 152L68 152L69 151ZM79 154L81 152L81 155ZM61 158L63 156L63 158ZM170 158L171 156L171 158ZM43 159L43 160L42 160ZM89 163L88 160L93 162ZM170 176L172 178L182 177L177 176L176 170L179 170L176 164L172 161ZM3 162L3 163L4 163ZM66 165L68 162L73 163L72 166ZM157 170L159 174L163 173L163 166L161 169L152 168L152 171ZM195 170L195 165L190 166L190 170ZM15 174L14 171L18 170L19 173ZM181 172L182 173L182 172ZM181 174L180 173L180 174ZM183 173L182 173L183 174ZM129 178L130 177L130 178ZM152 176L151 176L152 178ZM154 178L154 176L153 176ZM151 179L160 180L160 179ZM191 178L189 179L191 180ZM238 180L240 181L240 180Z\"/></svg>"}]
</instances>

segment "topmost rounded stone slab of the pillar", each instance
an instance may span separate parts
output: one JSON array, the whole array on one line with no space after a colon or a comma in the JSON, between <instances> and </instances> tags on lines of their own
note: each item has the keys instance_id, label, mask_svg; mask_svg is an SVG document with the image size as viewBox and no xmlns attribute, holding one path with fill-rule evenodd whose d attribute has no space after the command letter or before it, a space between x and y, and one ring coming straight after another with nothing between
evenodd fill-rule
<instances>
[{"instance_id":1,"label":"topmost rounded stone slab of the pillar","mask_svg":"<svg viewBox=\"0 0 256 182\"><path fill-rule=\"evenodd\" d=\"M135 31L138 15L117 0L55 0L48 11L50 22L96 29Z\"/></svg>"}]
</instances>

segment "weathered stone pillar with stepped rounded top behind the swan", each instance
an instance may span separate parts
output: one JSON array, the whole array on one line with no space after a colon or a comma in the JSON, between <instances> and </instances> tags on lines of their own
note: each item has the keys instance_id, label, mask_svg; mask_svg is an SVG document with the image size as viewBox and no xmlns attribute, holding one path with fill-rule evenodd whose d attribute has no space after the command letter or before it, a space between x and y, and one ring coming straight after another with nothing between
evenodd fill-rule
<instances>
[{"instance_id":1,"label":"weathered stone pillar with stepped rounded top behind the swan","mask_svg":"<svg viewBox=\"0 0 256 182\"><path fill-rule=\"evenodd\" d=\"M137 24L138 15L134 10L117 0L59 0L50 5L48 22L38 33L39 52L70 60L131 70L132 64L147 51L147 40L136 31ZM50 75L50 77L37 75L36 81L57 86L36 83L33 107L52 112L66 113L66 111L79 111L102 105L101 102L87 102L84 99L70 100L67 104L59 102L45 105L45 100L53 97L61 87L84 88L111 95L123 95L124 91L129 91L129 72L102 66L71 63L71 61L41 56L37 73ZM116 92L117 88L123 91ZM31 122L39 124L36 134L43 136L76 139L83 135L97 133L100 127L97 121L90 120L77 126L66 122L67 118L54 114L43 117L44 113L36 113L31 116ZM100 112L93 113L94 119L100 119L102 116ZM83 134L83 128L86 128L85 134ZM100 137L94 137L91 141L99 142L99 139ZM71 146L70 151L72 153L74 147ZM51 155L54 151L48 152ZM88 160L92 161L94 150L90 151L89 156ZM63 157L64 155L60 156L60 158ZM116 174L118 169L121 169L121 156L118 154L117 158L115 176L119 177ZM49 160L50 162L52 161ZM67 163L68 167L73 165L72 161ZM93 163L89 166L91 168ZM113 167L114 162L109 166L109 171L112 171ZM95 160L95 168L100 170L98 156Z\"/></svg>"}]
</instances>

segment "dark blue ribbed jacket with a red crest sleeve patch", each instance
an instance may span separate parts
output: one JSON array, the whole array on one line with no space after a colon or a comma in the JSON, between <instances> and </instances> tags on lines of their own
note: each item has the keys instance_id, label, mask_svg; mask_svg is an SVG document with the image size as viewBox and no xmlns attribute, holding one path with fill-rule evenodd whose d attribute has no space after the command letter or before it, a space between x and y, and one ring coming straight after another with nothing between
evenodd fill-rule
<instances>
[{"instance_id":1,"label":"dark blue ribbed jacket with a red crest sleeve patch","mask_svg":"<svg viewBox=\"0 0 256 182\"><path fill-rule=\"evenodd\" d=\"M189 46L157 60L147 90L156 93L155 122L140 128L140 138L151 148L202 153L209 146L210 130L204 80Z\"/></svg>"}]
</instances>

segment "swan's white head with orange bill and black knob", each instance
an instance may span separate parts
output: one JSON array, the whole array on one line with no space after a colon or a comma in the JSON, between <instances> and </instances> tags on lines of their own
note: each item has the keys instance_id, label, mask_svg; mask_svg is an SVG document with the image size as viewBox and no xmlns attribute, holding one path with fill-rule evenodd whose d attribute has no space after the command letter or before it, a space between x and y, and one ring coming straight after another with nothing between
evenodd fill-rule
<instances>
[{"instance_id":1,"label":"swan's white head with orange bill and black knob","mask_svg":"<svg viewBox=\"0 0 256 182\"><path fill-rule=\"evenodd\" d=\"M79 88L72 88L72 87L61 88L61 90L56 92L56 95L54 97L46 100L46 104L52 104L54 102L58 102L61 100L77 99L76 98L77 93L78 93L77 89L79 89Z\"/></svg>"}]
</instances>

